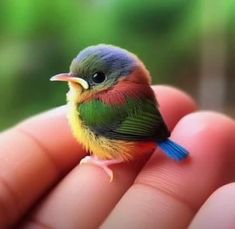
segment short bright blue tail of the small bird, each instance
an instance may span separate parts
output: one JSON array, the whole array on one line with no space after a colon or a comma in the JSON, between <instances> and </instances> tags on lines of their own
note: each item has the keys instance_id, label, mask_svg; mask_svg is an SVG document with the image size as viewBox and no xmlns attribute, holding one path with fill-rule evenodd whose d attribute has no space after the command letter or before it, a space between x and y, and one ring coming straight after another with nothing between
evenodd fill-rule
<instances>
[{"instance_id":1,"label":"short bright blue tail of the small bird","mask_svg":"<svg viewBox=\"0 0 235 229\"><path fill-rule=\"evenodd\" d=\"M173 160L180 161L189 155L189 152L185 148L170 139L166 139L163 142L157 142L157 144L160 149Z\"/></svg>"}]
</instances>

